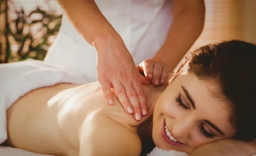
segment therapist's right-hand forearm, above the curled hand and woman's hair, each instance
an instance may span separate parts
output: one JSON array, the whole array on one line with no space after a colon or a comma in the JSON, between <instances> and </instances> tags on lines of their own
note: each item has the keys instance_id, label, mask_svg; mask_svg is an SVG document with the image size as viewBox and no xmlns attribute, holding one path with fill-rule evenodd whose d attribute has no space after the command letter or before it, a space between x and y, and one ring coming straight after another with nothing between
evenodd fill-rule
<instances>
[{"instance_id":1,"label":"therapist's right-hand forearm, above the curled hand and woman's hair","mask_svg":"<svg viewBox=\"0 0 256 156\"><path fill-rule=\"evenodd\" d=\"M204 9L184 9L174 18L166 40L152 58L166 63L174 70L204 28Z\"/></svg>"}]
</instances>

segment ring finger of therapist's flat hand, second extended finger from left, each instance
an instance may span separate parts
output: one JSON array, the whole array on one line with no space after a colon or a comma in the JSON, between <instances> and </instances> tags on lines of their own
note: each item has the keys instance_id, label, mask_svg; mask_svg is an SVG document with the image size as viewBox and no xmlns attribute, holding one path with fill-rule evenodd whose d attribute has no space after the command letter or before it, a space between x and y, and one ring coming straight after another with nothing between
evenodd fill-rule
<instances>
[{"instance_id":1,"label":"ring finger of therapist's flat hand, second extended finger from left","mask_svg":"<svg viewBox=\"0 0 256 156\"><path fill-rule=\"evenodd\" d=\"M127 98L126 91L122 85L122 82L120 82L119 80L116 79L113 82L113 88L116 92L116 97L118 98L122 107L125 109L126 113L128 113L128 114L134 113L134 110L132 109L132 106Z\"/></svg>"}]
</instances>

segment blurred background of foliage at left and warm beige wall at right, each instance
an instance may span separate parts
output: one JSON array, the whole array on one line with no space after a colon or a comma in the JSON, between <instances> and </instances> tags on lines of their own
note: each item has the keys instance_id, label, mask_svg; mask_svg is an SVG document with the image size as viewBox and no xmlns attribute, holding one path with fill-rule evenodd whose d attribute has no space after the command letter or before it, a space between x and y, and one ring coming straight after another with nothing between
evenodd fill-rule
<instances>
[{"instance_id":1,"label":"blurred background of foliage at left and warm beige wall at right","mask_svg":"<svg viewBox=\"0 0 256 156\"><path fill-rule=\"evenodd\" d=\"M205 0L205 5L204 30L191 50L227 39L256 43L256 0ZM0 63L44 60L61 14L56 0L0 0Z\"/></svg>"}]
</instances>

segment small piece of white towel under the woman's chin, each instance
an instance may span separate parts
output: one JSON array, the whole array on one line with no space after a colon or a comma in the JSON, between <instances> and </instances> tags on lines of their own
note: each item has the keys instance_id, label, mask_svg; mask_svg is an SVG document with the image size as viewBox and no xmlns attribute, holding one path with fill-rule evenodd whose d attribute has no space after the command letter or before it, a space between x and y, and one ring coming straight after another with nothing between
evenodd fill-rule
<instances>
[{"instance_id":1,"label":"small piece of white towel under the woman's chin","mask_svg":"<svg viewBox=\"0 0 256 156\"><path fill-rule=\"evenodd\" d=\"M162 150L159 147L154 147L147 156L188 156L188 153L176 150Z\"/></svg>"}]
</instances>

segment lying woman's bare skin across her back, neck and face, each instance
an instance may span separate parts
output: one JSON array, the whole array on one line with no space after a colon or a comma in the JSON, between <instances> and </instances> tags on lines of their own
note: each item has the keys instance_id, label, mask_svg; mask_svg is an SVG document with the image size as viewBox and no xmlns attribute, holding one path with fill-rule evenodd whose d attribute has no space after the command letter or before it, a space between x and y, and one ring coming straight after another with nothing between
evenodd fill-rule
<instances>
[{"instance_id":1,"label":"lying woman's bare skin across her back, neck and face","mask_svg":"<svg viewBox=\"0 0 256 156\"><path fill-rule=\"evenodd\" d=\"M193 74L178 74L165 90L164 87L143 86L149 109L148 116L144 116L140 122L125 113L120 103L106 105L99 82L39 88L17 100L7 110L6 144L56 156L139 156L141 140L152 137L162 149L192 153L202 145L225 140L235 133L229 122L229 107L212 96L209 91L211 85ZM192 109L181 86L191 95L196 109ZM176 101L179 94L189 109L185 110ZM153 120L150 118L152 115ZM160 134L163 119L172 135L186 145L172 146L163 139ZM198 124L204 119L214 123L225 136L205 123L204 128L216 136L204 136ZM232 148L241 144L247 148L250 146L234 142ZM228 145L228 142L214 146L227 147L223 145ZM252 150L247 148L237 150L244 154L251 153ZM204 151L204 148L198 148L198 153ZM227 152L219 150L215 153L226 156Z\"/></svg>"}]
</instances>

